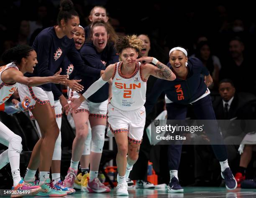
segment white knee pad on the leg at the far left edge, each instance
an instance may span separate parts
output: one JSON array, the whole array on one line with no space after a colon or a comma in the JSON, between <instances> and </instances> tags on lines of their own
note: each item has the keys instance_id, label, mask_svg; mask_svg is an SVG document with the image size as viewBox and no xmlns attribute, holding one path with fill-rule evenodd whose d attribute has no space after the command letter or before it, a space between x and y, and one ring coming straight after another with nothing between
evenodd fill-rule
<instances>
[{"instance_id":1,"label":"white knee pad on the leg at the far left edge","mask_svg":"<svg viewBox=\"0 0 256 198\"><path fill-rule=\"evenodd\" d=\"M8 156L13 157L13 156L17 156L20 155L21 151L22 151L22 144L21 144L21 137L18 135L13 135L10 139L9 139L9 145L8 145Z\"/></svg>"}]
</instances>

